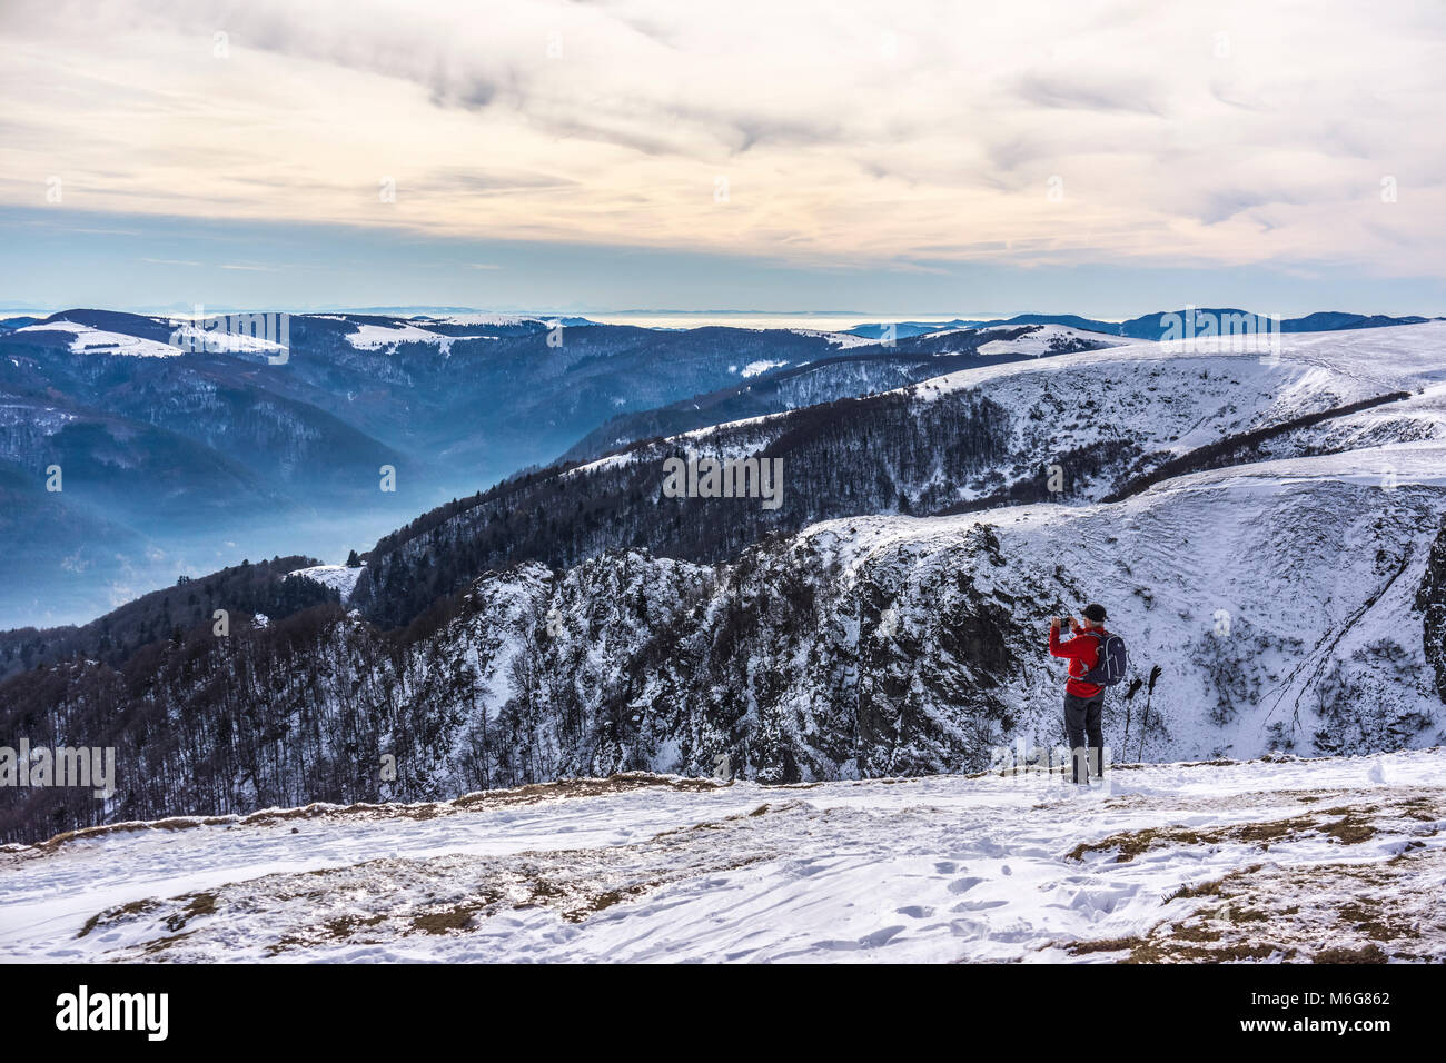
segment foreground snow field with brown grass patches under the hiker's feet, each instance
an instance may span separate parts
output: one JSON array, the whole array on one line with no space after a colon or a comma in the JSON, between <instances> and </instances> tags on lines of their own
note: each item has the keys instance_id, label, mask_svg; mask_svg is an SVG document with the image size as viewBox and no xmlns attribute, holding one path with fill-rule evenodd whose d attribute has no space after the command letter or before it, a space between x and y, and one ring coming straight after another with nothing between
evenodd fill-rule
<instances>
[{"instance_id":1,"label":"foreground snow field with brown grass patches under the hiker's feet","mask_svg":"<svg viewBox=\"0 0 1446 1063\"><path fill-rule=\"evenodd\" d=\"M0 848L0 959L1446 959L1446 751L622 775Z\"/></svg>"}]
</instances>

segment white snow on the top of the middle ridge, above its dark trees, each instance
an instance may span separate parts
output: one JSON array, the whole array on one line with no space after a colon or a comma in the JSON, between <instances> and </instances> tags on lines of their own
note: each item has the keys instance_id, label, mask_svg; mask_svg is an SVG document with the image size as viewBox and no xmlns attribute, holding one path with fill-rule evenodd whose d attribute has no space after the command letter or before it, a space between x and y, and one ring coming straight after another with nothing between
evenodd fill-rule
<instances>
[{"instance_id":1,"label":"white snow on the top of the middle ridge, above its dark trees","mask_svg":"<svg viewBox=\"0 0 1446 1063\"><path fill-rule=\"evenodd\" d=\"M1044 338L1037 340L1040 336ZM1063 325L1041 327L1006 343L1012 353L1030 353L1031 343L1066 336L1115 346L959 370L894 393L934 402L975 392L999 404L1014 414L1008 451L1021 461L1028 458L1027 464L1098 441L1138 444L1161 457L1186 454L1228 435L1392 392L1411 395L1301 430L1301 441L1345 450L1446 438L1446 323L1284 334L1278 357L1238 350L1238 337L1122 341ZM709 425L577 471L681 450L745 457L791 424L794 414L784 411ZM732 443L722 445L722 438ZM960 500L970 498L964 492Z\"/></svg>"}]
</instances>

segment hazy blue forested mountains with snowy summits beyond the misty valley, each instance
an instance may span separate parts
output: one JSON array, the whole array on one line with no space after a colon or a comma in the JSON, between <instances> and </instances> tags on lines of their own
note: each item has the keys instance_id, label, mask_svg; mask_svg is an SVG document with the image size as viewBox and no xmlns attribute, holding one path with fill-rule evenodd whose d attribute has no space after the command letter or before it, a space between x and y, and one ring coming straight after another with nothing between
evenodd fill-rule
<instances>
[{"instance_id":1,"label":"hazy blue forested mountains with snowy summits beyond the misty valley","mask_svg":"<svg viewBox=\"0 0 1446 1063\"><path fill-rule=\"evenodd\" d=\"M0 626L90 619L243 557L364 548L619 414L865 346L486 314L299 314L286 338L282 357L94 309L0 330Z\"/></svg>"}]
</instances>

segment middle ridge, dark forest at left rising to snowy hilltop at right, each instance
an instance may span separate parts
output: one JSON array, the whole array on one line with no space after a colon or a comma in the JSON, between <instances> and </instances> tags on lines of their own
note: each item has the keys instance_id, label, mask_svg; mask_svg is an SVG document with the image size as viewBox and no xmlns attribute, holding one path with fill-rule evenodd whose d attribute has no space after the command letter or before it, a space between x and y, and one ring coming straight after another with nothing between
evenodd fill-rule
<instances>
[{"instance_id":1,"label":"middle ridge, dark forest at left rising to snowy hilltop at right","mask_svg":"<svg viewBox=\"0 0 1446 1063\"><path fill-rule=\"evenodd\" d=\"M518 561L570 567L639 547L711 563L834 516L1103 499L1165 466L1178 474L1432 438L1446 432L1440 392L1429 390L1446 372L1443 337L1439 324L1287 337L1278 359L1134 344L649 440L418 518L370 551L354 600L399 626ZM690 453L781 460L781 505L667 498L665 463Z\"/></svg>"}]
</instances>

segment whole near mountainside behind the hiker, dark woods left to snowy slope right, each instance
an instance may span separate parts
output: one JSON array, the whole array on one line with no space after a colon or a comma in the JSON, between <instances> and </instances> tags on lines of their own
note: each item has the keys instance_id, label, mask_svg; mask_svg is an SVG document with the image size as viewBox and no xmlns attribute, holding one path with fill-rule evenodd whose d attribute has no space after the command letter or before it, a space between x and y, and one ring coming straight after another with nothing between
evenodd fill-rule
<instances>
[{"instance_id":1,"label":"whole near mountainside behind the hiker, dark woods left to snowy slope right","mask_svg":"<svg viewBox=\"0 0 1446 1063\"><path fill-rule=\"evenodd\" d=\"M33 743L113 745L124 771L104 806L0 791L0 837L626 769L977 769L995 746L1058 740L1044 623L1093 599L1131 646L1105 719L1116 759L1440 743L1423 623L1443 470L1442 444L1404 444L1118 503L831 521L722 565L525 563L411 642L322 605L226 639L197 629L120 670L36 668L0 687L0 726L23 714Z\"/></svg>"}]
</instances>

